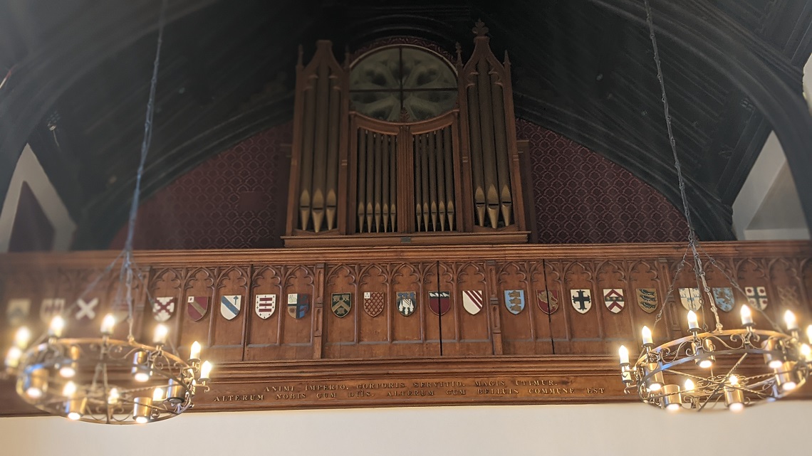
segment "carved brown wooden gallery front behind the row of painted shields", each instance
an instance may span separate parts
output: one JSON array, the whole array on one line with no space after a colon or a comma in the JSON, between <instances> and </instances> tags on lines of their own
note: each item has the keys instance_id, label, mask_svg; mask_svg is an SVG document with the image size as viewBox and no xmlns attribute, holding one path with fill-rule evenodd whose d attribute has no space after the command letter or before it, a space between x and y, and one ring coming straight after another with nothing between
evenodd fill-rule
<instances>
[{"instance_id":1,"label":"carved brown wooden gallery front behind the row of painted shields","mask_svg":"<svg viewBox=\"0 0 812 456\"><path fill-rule=\"evenodd\" d=\"M706 243L704 249L714 257L712 262L703 258L708 286L733 288L735 308L747 302L745 295L735 290L737 285L742 288L762 286L768 299L765 312L772 320L780 322L785 308L796 311L802 323L809 320L812 244ZM300 365L296 363L310 363L307 365L315 366L311 373L316 375L317 372L326 372L323 369L335 363L363 366L369 360L389 360L389 368L405 369L402 375L389 376L388 371L367 372L363 378L352 377L353 382L379 383L390 377L399 384L419 383L426 379L460 381L465 385L460 388L469 394L477 388L474 379L480 374L476 370L451 376L442 370L429 369L434 366L433 360L441 356L441 325L443 359L542 359L552 356L551 359L558 359L564 366L584 356L611 359L620 344L639 346L641 325L654 329L655 340L685 333L685 309L680 304L679 288L697 285L693 265L686 263L679 267L684 252L684 245L671 243L136 252L138 269L133 290L133 323L136 336L151 340L157 324L152 302L159 298L174 299L175 311L166 323L171 328L172 342L181 347L182 353L188 350L184 347L197 340L205 346L205 356L218 365L254 369L251 372L256 376L264 372L262 375L276 378L274 382L279 385L287 385L285 363L290 363L291 369ZM6 315L6 307L11 303L28 300L26 323L35 331L41 331L45 326L40 317L41 308L51 305L49 299L64 299L68 335L95 333L104 313L125 309L122 307L122 290L118 286L118 269L105 269L114 257L114 252L0 256L2 315ZM140 279L137 278L139 275ZM729 282L727 276L737 285ZM96 285L92 286L93 283ZM141 283L146 284L147 293ZM673 287L673 291L666 296L669 287ZM622 291L624 307L619 312L607 308L604 290L609 289ZM656 291L659 305L653 312L646 312L639 305L639 289ZM591 307L587 312L577 312L570 299L571 290L589 290ZM451 307L442 317L430 309L430 293L436 291L447 291L450 296ZM464 308L464 291L482 292L482 310L472 313ZM369 293L367 299L366 293ZM400 312L399 293L413 293L413 312ZM335 294L351 295L352 307L346 314L332 310ZM266 319L256 312L257 295L275 296L274 312ZM288 312L289 295L298 295L300 302L307 299L309 303L300 318ZM521 295L523 307L515 300ZM77 306L76 299L83 296L85 303L98 298L99 304L93 308L93 318L77 320L81 306ZM233 300L235 296L241 300L240 312L228 320L221 312L221 299ZM540 296L557 298L554 312L545 312ZM190 298L208 299L208 308L199 320L194 320L189 312ZM663 303L666 303L664 310ZM655 325L661 311L662 320ZM737 313L720 310L723 325L737 327ZM713 329L709 306L703 305L698 314L701 322ZM758 327L770 327L767 319L758 313L754 314L754 319ZM3 333L7 339L11 328L7 325L7 318L4 321ZM119 326L117 335L123 337L126 325ZM602 372L595 375L612 382L616 380L609 371ZM487 381L495 381L495 385L505 381L503 376L520 375L507 371L480 373L482 378L490 379ZM305 383L309 374L303 371L296 375L299 379L294 381L296 391L301 389L302 394L306 394L309 384ZM334 382L335 388L352 386L356 393L365 390L352 382L341 383L349 378L335 377L338 381ZM218 380L223 383L216 386L215 394L228 396L242 391L245 394L249 390L253 391L251 394L259 391L240 383L241 386L229 393L226 389L230 387L224 385L240 381L230 380L224 372L218 373ZM268 385L277 385L274 382ZM572 382L581 385L583 381ZM582 386L593 387L591 384ZM505 388L508 387L506 383ZM607 391L611 388L620 390L614 383L597 387ZM464 399L451 397L454 394L446 397L446 389L432 388L417 389L434 391L436 403L491 403L492 399L488 394L469 394ZM394 397L408 394L409 388L401 389L387 387L378 394L391 393L395 394ZM437 395L445 399L440 400ZM294 400L290 407L342 407L351 403L355 396L345 394L341 397L346 401L336 400L330 402L331 406L319 401ZM379 398L380 402L376 399L352 403L386 405L396 402L382 396ZM572 400L590 399L587 396L561 398L561 402ZM535 403L546 399L519 394L516 401ZM254 406L257 404L250 407ZM273 402L257 407L283 405Z\"/></svg>"}]
</instances>

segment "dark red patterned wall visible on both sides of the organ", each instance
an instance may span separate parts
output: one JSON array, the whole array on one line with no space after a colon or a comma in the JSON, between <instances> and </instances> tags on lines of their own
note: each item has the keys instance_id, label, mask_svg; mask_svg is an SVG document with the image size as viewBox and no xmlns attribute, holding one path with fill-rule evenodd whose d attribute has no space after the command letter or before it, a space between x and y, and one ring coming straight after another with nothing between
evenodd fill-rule
<instances>
[{"instance_id":1,"label":"dark red patterned wall visible on both sides of the organ","mask_svg":"<svg viewBox=\"0 0 812 456\"><path fill-rule=\"evenodd\" d=\"M138 211L139 249L281 247L292 125L271 128L205 161ZM643 243L687 237L685 219L627 170L523 120L541 243ZM122 229L111 248L121 248Z\"/></svg>"}]
</instances>

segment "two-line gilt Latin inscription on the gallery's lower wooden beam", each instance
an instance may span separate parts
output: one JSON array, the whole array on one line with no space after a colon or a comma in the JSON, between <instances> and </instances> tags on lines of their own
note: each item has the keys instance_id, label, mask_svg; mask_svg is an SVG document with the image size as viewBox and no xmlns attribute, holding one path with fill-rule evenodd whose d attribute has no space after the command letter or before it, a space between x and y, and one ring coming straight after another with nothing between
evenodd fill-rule
<instances>
[{"instance_id":1,"label":"two-line gilt Latin inscription on the gallery's lower wooden beam","mask_svg":"<svg viewBox=\"0 0 812 456\"><path fill-rule=\"evenodd\" d=\"M421 399L451 403L475 402L477 398L487 402L498 401L499 398L527 398L532 402L552 398L607 395L607 388L597 385L573 385L578 383L577 380L579 380L577 377L496 377L443 381L293 381L265 385L261 388L261 393L215 395L212 402L280 402L295 406L324 401L359 403L386 399L391 401L392 398L403 398L405 403Z\"/></svg>"}]
</instances>

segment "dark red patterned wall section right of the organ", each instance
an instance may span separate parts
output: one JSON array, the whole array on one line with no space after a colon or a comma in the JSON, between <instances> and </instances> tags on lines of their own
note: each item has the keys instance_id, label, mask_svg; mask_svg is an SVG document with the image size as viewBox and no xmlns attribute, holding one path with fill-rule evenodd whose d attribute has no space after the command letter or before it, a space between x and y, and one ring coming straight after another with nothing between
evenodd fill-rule
<instances>
[{"instance_id":1,"label":"dark red patterned wall section right of the organ","mask_svg":"<svg viewBox=\"0 0 812 456\"><path fill-rule=\"evenodd\" d=\"M688 239L680 210L624 168L533 123L517 119L516 130L530 141L539 243Z\"/></svg>"}]
</instances>

